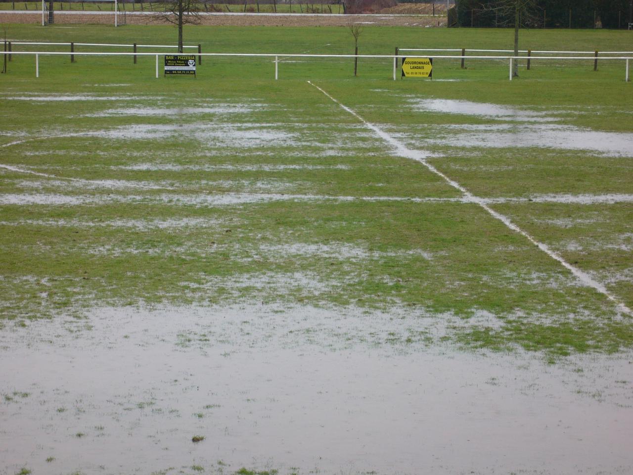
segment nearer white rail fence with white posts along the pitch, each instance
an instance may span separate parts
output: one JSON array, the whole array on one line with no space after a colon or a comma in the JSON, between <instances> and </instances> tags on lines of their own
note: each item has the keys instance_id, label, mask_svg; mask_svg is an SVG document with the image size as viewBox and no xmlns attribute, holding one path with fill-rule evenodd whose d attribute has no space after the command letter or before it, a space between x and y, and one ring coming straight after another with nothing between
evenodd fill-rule
<instances>
[{"instance_id":1,"label":"nearer white rail fence with white posts along the pitch","mask_svg":"<svg viewBox=\"0 0 633 475\"><path fill-rule=\"evenodd\" d=\"M13 51L12 54L34 54L35 55L35 77L39 77L39 56L59 56L68 55L68 53L61 53L56 51ZM158 75L158 58L163 54L173 53L99 53L99 52L84 52L74 53L78 56L155 56L156 57L156 78ZM420 55L401 55L401 54L275 54L275 53L199 53L198 56L210 56L210 57L237 57L237 58L274 58L275 63L275 80L279 79L279 57L282 58L389 58L393 60L393 79L396 80L396 70L398 68L398 60L402 58L426 58L427 56ZM470 60L505 60L510 62L510 77L512 80L513 75L513 62L518 60L525 60L525 56L433 56L434 60L437 59L455 59L468 58ZM594 60L592 56L532 56L532 60ZM604 61L625 61L625 81L629 82L629 63L633 60L632 56L610 56L602 58Z\"/></svg>"}]
</instances>

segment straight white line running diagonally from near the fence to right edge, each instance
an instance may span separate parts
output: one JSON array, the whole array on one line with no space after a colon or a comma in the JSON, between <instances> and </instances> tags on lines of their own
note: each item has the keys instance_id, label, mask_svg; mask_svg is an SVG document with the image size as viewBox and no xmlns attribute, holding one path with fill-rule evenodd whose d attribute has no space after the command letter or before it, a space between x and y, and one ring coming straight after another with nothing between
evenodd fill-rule
<instances>
[{"instance_id":1,"label":"straight white line running diagonally from near the fence to right edge","mask_svg":"<svg viewBox=\"0 0 633 475\"><path fill-rule=\"evenodd\" d=\"M387 134L387 132L385 132L384 130L380 129L379 127L377 127L374 124L371 124L370 122L367 122L367 120L365 120L360 115L358 115L358 113L356 113L355 111L351 110L348 106L345 106L341 102L337 101L337 99L335 99L332 96L330 96L330 94L328 94L327 92L323 91L323 89L318 87L318 85L312 84L312 82L310 82L310 81L308 81L308 84L313 85L314 87L316 87L316 89L318 89L319 91L323 92L323 94L325 94L325 96L327 96L332 101L334 101L334 103L336 103L337 105L341 106L342 109L348 111L351 115L353 115L358 120L360 120L360 122L365 124L366 127L368 127L369 129L372 129L373 132L375 132L379 137L384 139L384 141L386 141L387 143L391 144L391 146L393 146L396 149L396 151L398 152L398 155L402 156L403 158L411 158L412 160L415 160L416 162L422 163L422 165L427 167L431 172L433 172L434 174L438 175L439 177L442 177L442 179L444 179L444 181L446 181L450 186L452 186L453 188L458 189L459 191L461 191L461 193L463 194L463 196L465 198L465 201L470 201L471 203L475 203L475 204L481 206L482 208L484 208L484 210L486 210L492 217L494 217L495 219L498 219L499 221L501 221L503 224L505 224L512 231L518 232L519 234L521 234L522 236L527 238L528 241L530 241L530 243L532 243L535 246L537 246L537 248L539 248L541 251L546 253L549 257L551 257L554 260L560 262L561 265L563 265L563 267L565 267L565 269L567 269L570 272L572 272L572 274L574 276L576 276L577 279L579 279L580 282L582 282L586 286L589 286L589 287L592 287L592 288L596 289L599 293L605 295L609 300L613 301L617 305L617 308L621 312L624 312L625 314L629 314L629 315L633 316L633 311L631 311L631 309L629 307L627 307L622 301L620 301L615 295L610 293L610 291L608 291L603 284L601 284L600 282L594 280L591 276L589 276L589 274L587 274L583 270L580 270L577 267L574 267L573 265L568 263L565 259L563 259L555 251L551 250L547 244L544 244L544 243L541 243L541 242L537 241L530 234L528 234L527 232L523 231L523 229L521 229L516 224L514 224L510 220L510 218L508 218L507 216L502 215L501 213L498 213L495 210L493 210L490 206L488 206L486 204L486 200L484 200L484 198L479 198L479 196L475 196L474 194L470 193L470 191L468 191L465 187L461 186L458 182L450 179L448 176L444 175L441 171L437 170L436 167L431 165L425 159L427 154L425 154L425 153L423 153L421 151L418 151L418 150L412 150L412 149L408 148L406 145L401 143L398 139L396 139L396 138L390 136L389 134Z\"/></svg>"}]
</instances>

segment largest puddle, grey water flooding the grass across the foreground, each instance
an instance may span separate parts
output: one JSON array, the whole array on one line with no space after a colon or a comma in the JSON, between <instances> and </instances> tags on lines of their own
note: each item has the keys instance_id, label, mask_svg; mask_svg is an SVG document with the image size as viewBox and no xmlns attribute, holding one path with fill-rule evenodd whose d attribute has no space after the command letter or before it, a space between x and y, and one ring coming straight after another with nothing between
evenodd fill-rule
<instances>
[{"instance_id":1,"label":"largest puddle, grey water flooding the grass across the foreground","mask_svg":"<svg viewBox=\"0 0 633 475\"><path fill-rule=\"evenodd\" d=\"M390 341L437 320L406 310L89 314L1 331L3 473L215 472L218 460L282 474L633 469L630 355L547 365ZM323 326L338 336L322 341ZM346 338L359 343L328 344Z\"/></svg>"}]
</instances>

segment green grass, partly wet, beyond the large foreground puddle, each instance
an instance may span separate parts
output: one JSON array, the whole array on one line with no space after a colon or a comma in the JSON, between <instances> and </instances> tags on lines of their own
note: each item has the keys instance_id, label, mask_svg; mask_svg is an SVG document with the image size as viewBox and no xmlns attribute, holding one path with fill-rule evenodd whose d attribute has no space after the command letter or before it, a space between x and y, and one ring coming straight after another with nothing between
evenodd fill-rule
<instances>
[{"instance_id":1,"label":"green grass, partly wet, beyond the large foreground puddle","mask_svg":"<svg viewBox=\"0 0 633 475\"><path fill-rule=\"evenodd\" d=\"M175 39L166 26L6 30L13 41ZM346 28L187 27L185 40L205 52L353 49ZM521 41L621 51L630 32L530 30ZM510 45L510 30L360 37L361 54ZM196 79L154 79L154 57L41 56L35 79L34 58L15 55L0 77L3 324L94 305L260 301L457 315L465 325L445 338L466 346L630 348L630 315L307 82L427 151L633 307L624 62L532 65L510 82L505 62L436 60L435 80L393 81L389 59L361 60L354 78L351 60L285 58L275 81L270 59L203 58ZM510 112L447 113L442 100Z\"/></svg>"}]
</instances>

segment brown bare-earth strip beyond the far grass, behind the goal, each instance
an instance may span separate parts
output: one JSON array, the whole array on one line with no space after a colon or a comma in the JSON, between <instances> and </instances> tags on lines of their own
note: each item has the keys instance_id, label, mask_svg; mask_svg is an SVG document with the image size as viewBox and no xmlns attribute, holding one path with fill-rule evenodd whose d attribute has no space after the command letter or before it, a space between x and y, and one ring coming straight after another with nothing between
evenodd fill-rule
<instances>
[{"instance_id":1,"label":"brown bare-earth strip beyond the far grass, behind the goal","mask_svg":"<svg viewBox=\"0 0 633 475\"><path fill-rule=\"evenodd\" d=\"M0 13L0 23L41 23L42 13ZM55 13L56 23L112 23L112 14L88 15L68 14L61 11ZM415 15L301 15L283 14L213 14L202 18L203 25L228 25L242 27L345 27L349 22L359 22L375 26L403 27L442 27L446 26L444 16ZM150 15L128 13L127 23L130 25L147 25L162 23Z\"/></svg>"}]
</instances>

